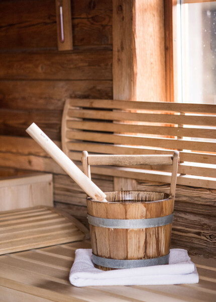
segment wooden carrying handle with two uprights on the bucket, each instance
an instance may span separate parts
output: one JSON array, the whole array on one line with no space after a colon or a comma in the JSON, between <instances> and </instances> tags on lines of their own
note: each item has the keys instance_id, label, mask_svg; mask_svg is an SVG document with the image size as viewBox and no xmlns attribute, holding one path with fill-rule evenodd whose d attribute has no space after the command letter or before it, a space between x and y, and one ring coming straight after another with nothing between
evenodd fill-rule
<instances>
[{"instance_id":1,"label":"wooden carrying handle with two uprights on the bucket","mask_svg":"<svg viewBox=\"0 0 216 302\"><path fill-rule=\"evenodd\" d=\"M90 165L168 165L172 166L170 182L170 195L175 198L175 188L178 170L179 152L174 151L173 155L88 155L87 151L82 152L83 172L91 179Z\"/></svg>"}]
</instances>

